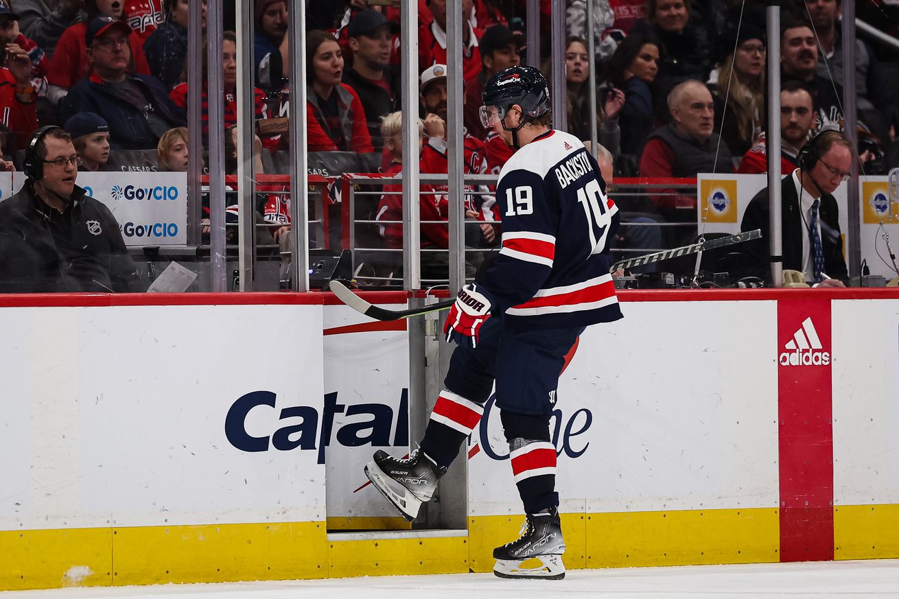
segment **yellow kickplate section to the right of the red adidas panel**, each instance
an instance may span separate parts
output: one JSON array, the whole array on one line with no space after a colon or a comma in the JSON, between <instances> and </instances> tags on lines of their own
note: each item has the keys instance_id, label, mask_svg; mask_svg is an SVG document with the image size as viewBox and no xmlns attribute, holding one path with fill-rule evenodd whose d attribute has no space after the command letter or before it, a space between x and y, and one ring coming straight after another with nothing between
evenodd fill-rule
<instances>
[{"instance_id":1,"label":"yellow kickplate section to the right of the red adidas panel","mask_svg":"<svg viewBox=\"0 0 899 599\"><path fill-rule=\"evenodd\" d=\"M899 505L833 508L833 559L899 558Z\"/></svg>"}]
</instances>

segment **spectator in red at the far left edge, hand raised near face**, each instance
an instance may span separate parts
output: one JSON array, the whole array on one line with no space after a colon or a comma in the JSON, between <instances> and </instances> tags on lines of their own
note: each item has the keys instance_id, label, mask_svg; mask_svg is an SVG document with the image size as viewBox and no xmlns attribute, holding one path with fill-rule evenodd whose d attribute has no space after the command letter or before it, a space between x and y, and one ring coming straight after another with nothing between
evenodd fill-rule
<instances>
[{"instance_id":1,"label":"spectator in red at the far left edge, hand raised near face","mask_svg":"<svg viewBox=\"0 0 899 599\"><path fill-rule=\"evenodd\" d=\"M28 53L16 43L0 47L0 125L13 132L9 150L23 149L38 128L37 94L31 84L34 66Z\"/></svg>"}]
</instances>

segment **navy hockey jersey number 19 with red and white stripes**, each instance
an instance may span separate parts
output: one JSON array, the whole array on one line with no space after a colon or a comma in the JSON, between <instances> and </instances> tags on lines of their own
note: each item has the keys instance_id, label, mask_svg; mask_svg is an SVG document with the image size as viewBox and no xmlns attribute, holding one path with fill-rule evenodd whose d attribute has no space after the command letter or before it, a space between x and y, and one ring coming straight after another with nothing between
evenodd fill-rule
<instances>
[{"instance_id":1,"label":"navy hockey jersey number 19 with red and white stripes","mask_svg":"<svg viewBox=\"0 0 899 599\"><path fill-rule=\"evenodd\" d=\"M478 283L507 326L561 328L621 317L609 273L618 207L583 143L549 130L519 149L496 186L503 247Z\"/></svg>"}]
</instances>

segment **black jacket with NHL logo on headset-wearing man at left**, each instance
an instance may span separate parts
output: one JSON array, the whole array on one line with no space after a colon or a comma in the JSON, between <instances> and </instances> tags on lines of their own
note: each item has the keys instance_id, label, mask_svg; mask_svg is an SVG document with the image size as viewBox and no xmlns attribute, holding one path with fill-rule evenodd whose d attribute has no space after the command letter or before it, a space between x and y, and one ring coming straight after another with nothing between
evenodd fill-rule
<instances>
[{"instance_id":1,"label":"black jacket with NHL logo on headset-wearing man at left","mask_svg":"<svg viewBox=\"0 0 899 599\"><path fill-rule=\"evenodd\" d=\"M62 213L38 198L31 180L0 201L0 291L146 291L100 201L76 185Z\"/></svg>"}]
</instances>

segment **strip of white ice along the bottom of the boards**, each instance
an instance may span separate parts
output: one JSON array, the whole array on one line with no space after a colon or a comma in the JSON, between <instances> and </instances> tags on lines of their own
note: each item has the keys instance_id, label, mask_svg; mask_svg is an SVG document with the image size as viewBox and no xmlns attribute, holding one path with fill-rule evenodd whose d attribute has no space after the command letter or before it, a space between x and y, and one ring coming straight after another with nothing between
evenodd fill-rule
<instances>
[{"instance_id":1,"label":"strip of white ice along the bottom of the boards","mask_svg":"<svg viewBox=\"0 0 899 599\"><path fill-rule=\"evenodd\" d=\"M503 580L493 574L122 586L9 591L0 599L780 599L899 598L899 559L745 566L569 570L565 580Z\"/></svg>"}]
</instances>

